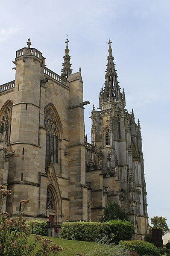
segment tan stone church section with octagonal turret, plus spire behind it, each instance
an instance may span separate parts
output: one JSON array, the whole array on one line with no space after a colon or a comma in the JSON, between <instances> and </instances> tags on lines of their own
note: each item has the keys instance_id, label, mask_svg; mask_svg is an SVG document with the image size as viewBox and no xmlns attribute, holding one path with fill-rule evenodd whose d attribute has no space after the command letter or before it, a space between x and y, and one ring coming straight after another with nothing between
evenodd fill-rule
<instances>
[{"instance_id":1,"label":"tan stone church section with octagonal turret, plus spire behind it","mask_svg":"<svg viewBox=\"0 0 170 256\"><path fill-rule=\"evenodd\" d=\"M83 82L68 42L61 76L29 39L16 52L15 80L0 85L0 182L12 190L4 206L12 216L29 199L26 218L87 219Z\"/></svg>"}]
</instances>

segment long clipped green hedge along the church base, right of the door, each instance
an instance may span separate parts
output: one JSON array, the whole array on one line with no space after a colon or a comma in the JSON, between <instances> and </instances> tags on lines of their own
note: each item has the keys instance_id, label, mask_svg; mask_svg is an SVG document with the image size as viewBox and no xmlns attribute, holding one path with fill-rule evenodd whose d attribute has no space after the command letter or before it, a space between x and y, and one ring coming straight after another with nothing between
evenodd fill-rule
<instances>
[{"instance_id":1,"label":"long clipped green hedge along the church base, right of the door","mask_svg":"<svg viewBox=\"0 0 170 256\"><path fill-rule=\"evenodd\" d=\"M112 242L118 244L120 240L129 240L134 233L134 227L129 221L114 220L109 222L64 222L61 237L70 240L95 241L96 238L114 238Z\"/></svg>"}]
</instances>

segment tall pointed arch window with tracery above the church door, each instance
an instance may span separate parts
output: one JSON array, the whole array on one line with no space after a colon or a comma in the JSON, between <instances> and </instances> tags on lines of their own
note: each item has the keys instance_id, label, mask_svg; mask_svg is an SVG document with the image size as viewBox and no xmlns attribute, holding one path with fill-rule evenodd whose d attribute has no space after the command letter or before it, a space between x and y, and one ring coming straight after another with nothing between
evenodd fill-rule
<instances>
[{"instance_id":1,"label":"tall pointed arch window with tracery above the church door","mask_svg":"<svg viewBox=\"0 0 170 256\"><path fill-rule=\"evenodd\" d=\"M46 164L59 161L59 133L58 124L52 109L49 107L44 113L44 127L47 129L46 137Z\"/></svg>"}]
</instances>

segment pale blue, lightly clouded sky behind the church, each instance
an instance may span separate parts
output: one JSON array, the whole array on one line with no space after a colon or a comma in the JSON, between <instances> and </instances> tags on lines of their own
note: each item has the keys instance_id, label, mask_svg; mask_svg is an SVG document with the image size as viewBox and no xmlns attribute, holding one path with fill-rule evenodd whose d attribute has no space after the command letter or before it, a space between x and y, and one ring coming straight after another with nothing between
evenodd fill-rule
<instances>
[{"instance_id":1,"label":"pale blue, lightly clouded sky behind the church","mask_svg":"<svg viewBox=\"0 0 170 256\"><path fill-rule=\"evenodd\" d=\"M141 123L148 215L170 227L170 1L0 0L0 84L15 79L16 50L43 53L47 68L61 74L66 34L73 73L82 69L85 129L90 142L92 106L105 82L108 40L126 109Z\"/></svg>"}]
</instances>

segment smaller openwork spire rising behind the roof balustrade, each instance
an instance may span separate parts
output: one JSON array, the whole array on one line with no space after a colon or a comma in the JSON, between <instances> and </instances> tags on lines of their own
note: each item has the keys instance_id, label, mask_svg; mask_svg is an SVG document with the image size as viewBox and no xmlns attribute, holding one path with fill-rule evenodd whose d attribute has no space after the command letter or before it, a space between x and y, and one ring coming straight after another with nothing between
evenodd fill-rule
<instances>
[{"instance_id":1,"label":"smaller openwork spire rising behind the roof balustrade","mask_svg":"<svg viewBox=\"0 0 170 256\"><path fill-rule=\"evenodd\" d=\"M61 77L64 77L65 79L68 78L68 75L72 73L71 64L70 64L70 56L69 56L69 49L68 49L68 38L66 39L66 48L65 48L65 56L63 57L64 63L62 64L62 74Z\"/></svg>"}]
</instances>

